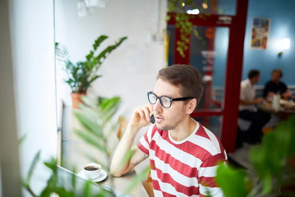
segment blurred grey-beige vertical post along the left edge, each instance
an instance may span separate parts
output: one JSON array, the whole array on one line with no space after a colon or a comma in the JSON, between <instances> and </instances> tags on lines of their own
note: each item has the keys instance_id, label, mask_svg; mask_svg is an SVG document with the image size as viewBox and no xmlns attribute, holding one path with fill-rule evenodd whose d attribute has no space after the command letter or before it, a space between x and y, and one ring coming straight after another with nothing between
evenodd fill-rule
<instances>
[{"instance_id":1,"label":"blurred grey-beige vertical post along the left edge","mask_svg":"<svg viewBox=\"0 0 295 197\"><path fill-rule=\"evenodd\" d=\"M20 197L9 0L0 0L0 197Z\"/></svg>"}]
</instances>

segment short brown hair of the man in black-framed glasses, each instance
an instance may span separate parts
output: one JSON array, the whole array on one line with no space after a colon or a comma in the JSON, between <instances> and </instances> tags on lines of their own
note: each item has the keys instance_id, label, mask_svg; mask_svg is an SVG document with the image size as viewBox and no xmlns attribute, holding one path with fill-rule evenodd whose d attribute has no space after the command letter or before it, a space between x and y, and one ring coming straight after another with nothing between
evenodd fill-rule
<instances>
[{"instance_id":1,"label":"short brown hair of the man in black-framed glasses","mask_svg":"<svg viewBox=\"0 0 295 197\"><path fill-rule=\"evenodd\" d=\"M199 103L203 93L203 82L197 68L188 65L172 65L162 68L157 79L159 78L179 87L182 97L194 97Z\"/></svg>"}]
</instances>

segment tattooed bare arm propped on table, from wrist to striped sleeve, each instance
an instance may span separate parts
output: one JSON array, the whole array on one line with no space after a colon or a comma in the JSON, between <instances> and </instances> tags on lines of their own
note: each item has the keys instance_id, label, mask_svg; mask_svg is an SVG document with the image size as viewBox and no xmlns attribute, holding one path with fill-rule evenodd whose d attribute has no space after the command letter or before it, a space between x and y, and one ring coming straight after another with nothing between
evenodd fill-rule
<instances>
[{"instance_id":1,"label":"tattooed bare arm propped on table, from wrist to striped sleeve","mask_svg":"<svg viewBox=\"0 0 295 197\"><path fill-rule=\"evenodd\" d=\"M148 154L142 152L137 145L131 147L138 131L137 128L127 126L113 156L110 169L111 175L120 177L148 158ZM133 155L130 157L131 153ZM128 160L128 158L130 159Z\"/></svg>"}]
</instances>

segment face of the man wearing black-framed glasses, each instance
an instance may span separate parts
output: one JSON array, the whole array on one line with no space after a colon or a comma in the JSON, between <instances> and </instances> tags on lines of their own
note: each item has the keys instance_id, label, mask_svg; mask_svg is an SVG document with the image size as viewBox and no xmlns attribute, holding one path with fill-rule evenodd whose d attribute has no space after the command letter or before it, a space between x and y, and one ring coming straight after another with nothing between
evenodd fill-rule
<instances>
[{"instance_id":1,"label":"face of the man wearing black-framed glasses","mask_svg":"<svg viewBox=\"0 0 295 197\"><path fill-rule=\"evenodd\" d=\"M169 82L158 79L152 91L158 97L168 96L172 99L183 97L180 95L178 87L171 85ZM189 103L185 101L173 101L169 108L161 105L159 99L153 105L156 127L160 130L173 130L181 123L186 114Z\"/></svg>"}]
</instances>

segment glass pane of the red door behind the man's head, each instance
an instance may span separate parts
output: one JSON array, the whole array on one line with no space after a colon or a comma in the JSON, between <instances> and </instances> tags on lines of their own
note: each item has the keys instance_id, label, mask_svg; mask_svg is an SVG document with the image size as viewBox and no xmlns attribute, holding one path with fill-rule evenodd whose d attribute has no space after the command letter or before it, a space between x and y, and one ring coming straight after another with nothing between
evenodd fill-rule
<instances>
[{"instance_id":1,"label":"glass pane of the red door behind the man's head","mask_svg":"<svg viewBox=\"0 0 295 197\"><path fill-rule=\"evenodd\" d=\"M194 27L191 36L190 65L200 70L204 92L196 110L222 108L227 63L229 29Z\"/></svg>"}]
</instances>

